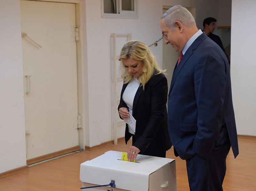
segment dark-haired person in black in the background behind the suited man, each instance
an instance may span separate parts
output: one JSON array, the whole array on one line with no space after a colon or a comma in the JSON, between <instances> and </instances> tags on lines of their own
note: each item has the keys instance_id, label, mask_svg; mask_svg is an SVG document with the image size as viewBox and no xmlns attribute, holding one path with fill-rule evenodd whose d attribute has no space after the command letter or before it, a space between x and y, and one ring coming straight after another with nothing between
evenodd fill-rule
<instances>
[{"instance_id":1,"label":"dark-haired person in black in the background behind the suited man","mask_svg":"<svg viewBox=\"0 0 256 191\"><path fill-rule=\"evenodd\" d=\"M212 39L214 42L216 42L220 48L223 50L223 52L225 53L227 59L228 59L228 63L229 63L229 66L230 66L230 59L229 59L229 56L228 54L226 53L224 47L223 47L223 44L222 44L222 41L220 39L220 37L216 34L213 34L213 31L215 29L215 22L217 20L213 17L208 17L208 18L205 18L204 19L204 22L203 22L203 26L204 26L204 29L203 29L203 32L205 32L205 34L210 38Z\"/></svg>"}]
</instances>

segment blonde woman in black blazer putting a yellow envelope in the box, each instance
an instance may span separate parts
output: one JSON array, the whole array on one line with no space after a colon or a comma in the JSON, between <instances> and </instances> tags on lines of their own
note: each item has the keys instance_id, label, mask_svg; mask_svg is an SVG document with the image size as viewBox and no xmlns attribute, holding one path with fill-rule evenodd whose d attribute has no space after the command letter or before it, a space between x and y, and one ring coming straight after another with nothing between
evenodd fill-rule
<instances>
[{"instance_id":1,"label":"blonde woman in black blazer putting a yellow envelope in the box","mask_svg":"<svg viewBox=\"0 0 256 191\"><path fill-rule=\"evenodd\" d=\"M121 119L129 113L136 120L135 132L126 124L125 143L132 137L127 158L138 154L165 157L171 148L167 127L167 79L148 46L138 40L124 44L119 61L124 84L118 112ZM129 112L129 113L128 113Z\"/></svg>"}]
</instances>

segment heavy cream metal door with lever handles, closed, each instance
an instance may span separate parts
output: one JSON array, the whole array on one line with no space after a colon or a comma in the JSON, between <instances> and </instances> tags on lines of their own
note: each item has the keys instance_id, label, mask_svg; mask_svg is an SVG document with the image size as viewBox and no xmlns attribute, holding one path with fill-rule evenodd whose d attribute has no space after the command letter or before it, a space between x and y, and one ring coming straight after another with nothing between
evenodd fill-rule
<instances>
[{"instance_id":1,"label":"heavy cream metal door with lever handles, closed","mask_svg":"<svg viewBox=\"0 0 256 191\"><path fill-rule=\"evenodd\" d=\"M79 144L76 14L70 3L21 0L20 8L27 159L31 159Z\"/></svg>"}]
</instances>

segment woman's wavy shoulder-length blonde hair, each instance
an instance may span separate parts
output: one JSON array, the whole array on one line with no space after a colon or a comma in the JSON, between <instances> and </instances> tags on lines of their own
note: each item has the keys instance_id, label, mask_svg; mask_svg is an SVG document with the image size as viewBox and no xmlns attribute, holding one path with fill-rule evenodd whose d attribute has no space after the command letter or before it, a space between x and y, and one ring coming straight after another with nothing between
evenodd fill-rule
<instances>
[{"instance_id":1,"label":"woman's wavy shoulder-length blonde hair","mask_svg":"<svg viewBox=\"0 0 256 191\"><path fill-rule=\"evenodd\" d=\"M156 63L155 56L151 53L147 45L139 40L129 40L124 44L118 59L121 61L120 70L122 71L121 77L124 78L124 84L132 79L132 74L125 69L123 62L124 59L130 58L143 62L142 75L139 78L143 90L145 84L154 74L165 72L165 70L160 69L159 65Z\"/></svg>"}]
</instances>

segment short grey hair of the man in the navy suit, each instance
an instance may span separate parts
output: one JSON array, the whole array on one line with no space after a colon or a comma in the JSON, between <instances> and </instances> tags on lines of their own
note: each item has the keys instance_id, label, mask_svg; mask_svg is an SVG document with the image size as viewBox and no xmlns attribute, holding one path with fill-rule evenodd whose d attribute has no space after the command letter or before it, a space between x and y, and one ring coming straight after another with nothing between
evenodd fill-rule
<instances>
[{"instance_id":1,"label":"short grey hair of the man in the navy suit","mask_svg":"<svg viewBox=\"0 0 256 191\"><path fill-rule=\"evenodd\" d=\"M181 5L175 5L168 9L161 17L164 18L164 23L172 31L175 29L175 21L180 21L184 26L196 26L196 22L192 14Z\"/></svg>"}]
</instances>

